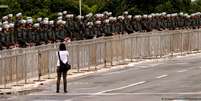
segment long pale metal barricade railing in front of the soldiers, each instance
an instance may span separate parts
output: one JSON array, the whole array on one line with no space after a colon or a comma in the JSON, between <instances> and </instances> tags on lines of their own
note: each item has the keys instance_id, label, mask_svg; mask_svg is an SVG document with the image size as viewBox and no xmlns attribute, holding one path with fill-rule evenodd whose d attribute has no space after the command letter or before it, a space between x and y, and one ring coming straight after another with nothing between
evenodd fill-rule
<instances>
[{"instance_id":1,"label":"long pale metal barricade railing in front of the soldiers","mask_svg":"<svg viewBox=\"0 0 201 101\"><path fill-rule=\"evenodd\" d=\"M116 35L67 43L69 61L76 72L96 70L138 59L160 58L201 49L201 30L154 31ZM21 85L30 78L56 72L59 43L0 51L0 85ZM20 82L19 82L20 81ZM21 82L23 81L23 82Z\"/></svg>"}]
</instances>

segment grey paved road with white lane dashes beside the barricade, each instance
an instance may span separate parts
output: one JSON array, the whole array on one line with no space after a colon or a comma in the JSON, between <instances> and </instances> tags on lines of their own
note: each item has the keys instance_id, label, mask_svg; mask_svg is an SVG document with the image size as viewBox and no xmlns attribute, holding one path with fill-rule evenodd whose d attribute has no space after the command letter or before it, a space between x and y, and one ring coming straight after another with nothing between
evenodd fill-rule
<instances>
[{"instance_id":1,"label":"grey paved road with white lane dashes beside the barricade","mask_svg":"<svg viewBox=\"0 0 201 101\"><path fill-rule=\"evenodd\" d=\"M69 93L55 83L9 101L201 101L201 55L137 64L68 82Z\"/></svg>"}]
</instances>

